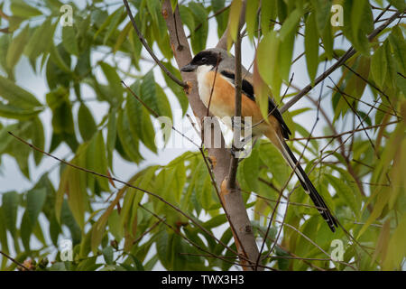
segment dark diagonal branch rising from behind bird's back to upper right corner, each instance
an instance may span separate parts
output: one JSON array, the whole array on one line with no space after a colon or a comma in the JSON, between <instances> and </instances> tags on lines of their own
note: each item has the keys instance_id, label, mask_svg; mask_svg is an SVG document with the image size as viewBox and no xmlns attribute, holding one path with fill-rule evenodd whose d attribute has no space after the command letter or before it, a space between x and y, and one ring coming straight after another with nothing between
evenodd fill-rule
<instances>
[{"instance_id":1,"label":"dark diagonal branch rising from behind bird's back to upper right corner","mask_svg":"<svg viewBox=\"0 0 406 289\"><path fill-rule=\"evenodd\" d=\"M392 23L395 19L398 18L398 16L401 14L401 12L396 12L393 14L385 23L383 23L381 26L377 27L373 33L369 34L368 40L371 42L376 35L381 33L383 29L385 29L390 23ZM340 66L342 66L344 63L346 63L347 60L349 60L352 56L355 55L355 48L350 47L346 53L341 56L336 63L334 63L328 70L323 72L320 76L318 76L317 79L314 80L314 87L318 85L323 79L326 79L331 73L336 71ZM300 100L300 98L303 98L311 89L314 88L311 84L309 84L307 87L304 89L300 90L300 92L293 98L291 98L290 101L288 101L283 107L281 107L280 111L281 113L285 112L288 110L291 106L293 106L296 102Z\"/></svg>"}]
</instances>

